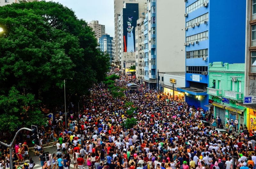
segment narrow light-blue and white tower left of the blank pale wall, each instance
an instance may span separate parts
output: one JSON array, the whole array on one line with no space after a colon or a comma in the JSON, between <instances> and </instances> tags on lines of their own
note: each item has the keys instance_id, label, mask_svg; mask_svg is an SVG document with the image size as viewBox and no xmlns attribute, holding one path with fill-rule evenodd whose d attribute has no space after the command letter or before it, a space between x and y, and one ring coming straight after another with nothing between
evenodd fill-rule
<instances>
[{"instance_id":1,"label":"narrow light-blue and white tower left of the blank pale wall","mask_svg":"<svg viewBox=\"0 0 256 169\"><path fill-rule=\"evenodd\" d=\"M156 89L156 2L148 1L144 19L144 82ZM149 12L151 11L151 12Z\"/></svg>"}]
</instances>

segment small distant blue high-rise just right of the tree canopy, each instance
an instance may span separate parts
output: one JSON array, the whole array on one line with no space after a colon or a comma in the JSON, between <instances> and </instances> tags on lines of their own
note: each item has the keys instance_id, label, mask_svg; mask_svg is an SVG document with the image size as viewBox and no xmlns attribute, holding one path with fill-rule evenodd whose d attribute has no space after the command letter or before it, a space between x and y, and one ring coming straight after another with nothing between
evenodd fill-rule
<instances>
[{"instance_id":1,"label":"small distant blue high-rise just right of the tree canopy","mask_svg":"<svg viewBox=\"0 0 256 169\"><path fill-rule=\"evenodd\" d=\"M109 55L109 63L112 64L112 40L113 37L110 37L108 34L102 35L99 39L100 51L107 51Z\"/></svg>"}]
</instances>

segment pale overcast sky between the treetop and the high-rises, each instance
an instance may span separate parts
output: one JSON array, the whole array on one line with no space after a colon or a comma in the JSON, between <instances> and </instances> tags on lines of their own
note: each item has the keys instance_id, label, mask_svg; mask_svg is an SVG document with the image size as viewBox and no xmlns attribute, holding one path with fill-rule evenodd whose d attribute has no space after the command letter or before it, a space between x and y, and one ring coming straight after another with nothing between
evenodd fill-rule
<instances>
[{"instance_id":1,"label":"pale overcast sky between the treetop and the high-rises","mask_svg":"<svg viewBox=\"0 0 256 169\"><path fill-rule=\"evenodd\" d=\"M46 0L50 1L50 0ZM86 22L98 20L105 31L114 37L114 0L52 0L75 11L77 18Z\"/></svg>"}]
</instances>

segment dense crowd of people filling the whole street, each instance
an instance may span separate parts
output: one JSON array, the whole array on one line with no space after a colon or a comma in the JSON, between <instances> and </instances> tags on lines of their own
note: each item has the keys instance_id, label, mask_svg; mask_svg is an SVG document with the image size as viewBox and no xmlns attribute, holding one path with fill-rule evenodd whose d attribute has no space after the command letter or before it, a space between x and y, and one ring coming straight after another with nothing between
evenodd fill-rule
<instances>
[{"instance_id":1,"label":"dense crowd of people filling the whole street","mask_svg":"<svg viewBox=\"0 0 256 169\"><path fill-rule=\"evenodd\" d=\"M125 86L128 80L128 76L121 76L115 85ZM256 134L249 135L246 126L237 136L232 131L218 133L215 128L220 120L203 108L143 85L139 92L124 93L123 98L114 98L105 85L95 85L79 112L71 104L67 129L61 111L53 120L49 118L41 132L46 143L54 141L56 153L44 160L43 146L35 145L42 168L69 169L71 164L75 169L256 168ZM133 105L127 107L127 102ZM126 111L134 107L133 114L128 115ZM130 118L137 124L127 129L124 123ZM204 126L200 120L213 126ZM18 144L13 157L23 161L28 154L26 146ZM0 152L2 160L8 161L8 151ZM0 162L0 169L4 164L8 162ZM30 159L23 167L33 169L33 164Z\"/></svg>"}]
</instances>

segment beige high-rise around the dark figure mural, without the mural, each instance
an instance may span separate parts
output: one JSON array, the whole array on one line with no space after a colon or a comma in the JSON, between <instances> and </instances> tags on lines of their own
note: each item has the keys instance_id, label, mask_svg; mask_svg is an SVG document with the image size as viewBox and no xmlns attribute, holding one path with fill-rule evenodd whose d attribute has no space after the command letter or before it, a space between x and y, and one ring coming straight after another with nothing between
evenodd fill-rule
<instances>
[{"instance_id":1,"label":"beige high-rise around the dark figure mural, without the mural","mask_svg":"<svg viewBox=\"0 0 256 169\"><path fill-rule=\"evenodd\" d=\"M126 3L136 3L139 5L139 18L147 5L147 0L114 0L114 24L115 24L115 39L116 39L116 65L123 67L123 62L128 60L135 60L135 57L129 57L124 54L123 48L123 16L122 10ZM125 56L125 59L124 59ZM127 58L126 58L127 56ZM129 58L128 58L129 57Z\"/></svg>"}]
</instances>

